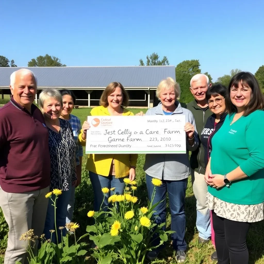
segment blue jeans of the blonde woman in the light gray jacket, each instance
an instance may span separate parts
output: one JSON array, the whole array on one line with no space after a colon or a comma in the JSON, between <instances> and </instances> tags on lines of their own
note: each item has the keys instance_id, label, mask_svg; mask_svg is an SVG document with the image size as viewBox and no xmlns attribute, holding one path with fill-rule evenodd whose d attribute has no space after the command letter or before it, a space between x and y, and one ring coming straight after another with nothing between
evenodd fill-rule
<instances>
[{"instance_id":1,"label":"blue jeans of the blonde woman in the light gray jacket","mask_svg":"<svg viewBox=\"0 0 264 264\"><path fill-rule=\"evenodd\" d=\"M154 185L151 182L152 177L146 174L146 182L148 189L148 198L151 199ZM166 222L166 192L168 192L169 197L169 208L171 210L171 230L176 233L171 234L172 245L175 250L185 251L187 249L187 243L184 239L185 237L185 210L184 210L184 199L187 188L188 179L180 181L167 181L162 180L162 185L156 187L156 192L154 196L153 204L158 201L159 203L154 209L153 218L157 224ZM163 226L163 230L166 230L166 225ZM155 239L157 235L154 235ZM154 240L154 246L159 244L160 239Z\"/></svg>"}]
</instances>

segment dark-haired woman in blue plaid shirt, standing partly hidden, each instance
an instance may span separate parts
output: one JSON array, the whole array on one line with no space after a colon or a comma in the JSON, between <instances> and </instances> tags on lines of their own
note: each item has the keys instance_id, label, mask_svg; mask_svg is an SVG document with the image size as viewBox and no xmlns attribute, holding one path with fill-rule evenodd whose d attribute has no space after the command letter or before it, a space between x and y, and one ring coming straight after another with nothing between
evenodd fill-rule
<instances>
[{"instance_id":1,"label":"dark-haired woman in blue plaid shirt, standing partly hidden","mask_svg":"<svg viewBox=\"0 0 264 264\"><path fill-rule=\"evenodd\" d=\"M67 89L61 90L60 93L62 95L62 102L63 102L62 113L60 115L60 118L70 122L73 131L73 139L76 144L76 175L77 175L76 187L77 187L81 183L81 177L82 177L83 147L78 143L78 136L81 131L82 125L80 119L77 116L70 114L76 102L76 97L74 93L71 90L67 90ZM75 187L73 187L71 190L72 193L68 204L66 223L70 223L72 221L72 215L74 209Z\"/></svg>"}]
</instances>

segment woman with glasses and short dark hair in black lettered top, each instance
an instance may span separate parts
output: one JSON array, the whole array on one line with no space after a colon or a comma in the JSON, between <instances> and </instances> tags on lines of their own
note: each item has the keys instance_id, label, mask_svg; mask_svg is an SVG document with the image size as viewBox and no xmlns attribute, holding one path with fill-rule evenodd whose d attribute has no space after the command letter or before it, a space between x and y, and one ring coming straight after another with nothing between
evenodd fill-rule
<instances>
[{"instance_id":1,"label":"woman with glasses and short dark hair in black lettered top","mask_svg":"<svg viewBox=\"0 0 264 264\"><path fill-rule=\"evenodd\" d=\"M223 125L227 112L225 109L225 95L227 89L221 84L215 84L209 88L206 92L206 100L208 101L208 106L213 115L209 116L204 129L201 133L201 144L204 147L204 163L207 166L208 160L210 158L210 153L212 151L212 138L214 134ZM214 229L212 224L211 215L211 241L215 247L214 243ZM211 256L212 260L217 260L216 251Z\"/></svg>"}]
</instances>

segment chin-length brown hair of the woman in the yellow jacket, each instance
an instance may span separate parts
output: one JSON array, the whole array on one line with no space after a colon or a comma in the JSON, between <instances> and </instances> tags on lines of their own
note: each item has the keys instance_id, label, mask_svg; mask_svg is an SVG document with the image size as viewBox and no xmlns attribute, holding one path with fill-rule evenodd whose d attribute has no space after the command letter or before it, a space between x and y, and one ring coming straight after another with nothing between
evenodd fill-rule
<instances>
[{"instance_id":1,"label":"chin-length brown hair of the woman in the yellow jacket","mask_svg":"<svg viewBox=\"0 0 264 264\"><path fill-rule=\"evenodd\" d=\"M128 92L125 90L124 86L122 86L122 84L119 82L111 82L110 84L107 85L107 87L103 90L103 93L100 97L99 104L102 106L108 106L107 97L111 95L111 93L114 92L117 87L119 87L122 90L123 101L121 106L127 107L129 105L129 95Z\"/></svg>"}]
</instances>

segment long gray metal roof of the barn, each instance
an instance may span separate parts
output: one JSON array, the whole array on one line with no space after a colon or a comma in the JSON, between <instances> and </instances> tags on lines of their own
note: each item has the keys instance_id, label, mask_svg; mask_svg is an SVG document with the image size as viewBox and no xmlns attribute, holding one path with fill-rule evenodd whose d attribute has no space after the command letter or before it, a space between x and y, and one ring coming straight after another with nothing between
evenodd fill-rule
<instances>
[{"instance_id":1,"label":"long gray metal roof of the barn","mask_svg":"<svg viewBox=\"0 0 264 264\"><path fill-rule=\"evenodd\" d=\"M34 72L38 88L105 88L111 82L127 88L157 87L164 78L175 79L175 66L0 67L0 88L9 87L11 73L22 68Z\"/></svg>"}]
</instances>

